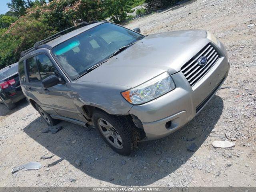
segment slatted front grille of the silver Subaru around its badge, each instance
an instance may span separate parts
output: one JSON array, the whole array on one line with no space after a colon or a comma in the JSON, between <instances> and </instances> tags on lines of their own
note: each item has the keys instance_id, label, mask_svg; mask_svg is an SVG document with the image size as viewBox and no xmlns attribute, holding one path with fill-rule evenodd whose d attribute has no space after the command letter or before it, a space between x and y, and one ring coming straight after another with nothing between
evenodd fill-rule
<instances>
[{"instance_id":1,"label":"slatted front grille of the silver Subaru around its badge","mask_svg":"<svg viewBox=\"0 0 256 192\"><path fill-rule=\"evenodd\" d=\"M204 66L198 64L198 59L202 56L207 57L207 63ZM190 86L198 82L209 70L214 66L220 55L212 44L207 44L200 52L198 52L192 59L190 59L181 71L188 80Z\"/></svg>"}]
</instances>

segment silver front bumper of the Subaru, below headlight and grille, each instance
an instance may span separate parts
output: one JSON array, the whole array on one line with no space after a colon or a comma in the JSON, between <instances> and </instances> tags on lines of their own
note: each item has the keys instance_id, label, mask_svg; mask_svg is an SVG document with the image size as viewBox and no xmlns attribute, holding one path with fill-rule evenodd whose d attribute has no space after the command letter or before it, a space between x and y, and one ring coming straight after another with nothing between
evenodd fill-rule
<instances>
[{"instance_id":1,"label":"silver front bumper of the Subaru, below headlight and grille","mask_svg":"<svg viewBox=\"0 0 256 192\"><path fill-rule=\"evenodd\" d=\"M192 87L183 73L178 72L172 75L175 90L146 104L133 106L129 112L142 122L145 140L163 138L192 120L220 88L228 71L228 59L221 57Z\"/></svg>"}]
</instances>

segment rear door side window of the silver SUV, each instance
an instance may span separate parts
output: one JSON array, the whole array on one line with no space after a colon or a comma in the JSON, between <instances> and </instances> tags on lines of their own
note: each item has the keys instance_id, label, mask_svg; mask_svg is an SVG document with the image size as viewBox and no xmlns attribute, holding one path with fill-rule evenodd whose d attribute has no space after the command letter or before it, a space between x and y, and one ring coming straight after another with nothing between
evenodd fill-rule
<instances>
[{"instance_id":1,"label":"rear door side window of the silver SUV","mask_svg":"<svg viewBox=\"0 0 256 192\"><path fill-rule=\"evenodd\" d=\"M38 72L38 67L36 64L36 56L27 59L26 63L27 63L27 71L28 71L29 81L31 81L31 82L40 81L41 78L40 78L40 75Z\"/></svg>"}]
</instances>

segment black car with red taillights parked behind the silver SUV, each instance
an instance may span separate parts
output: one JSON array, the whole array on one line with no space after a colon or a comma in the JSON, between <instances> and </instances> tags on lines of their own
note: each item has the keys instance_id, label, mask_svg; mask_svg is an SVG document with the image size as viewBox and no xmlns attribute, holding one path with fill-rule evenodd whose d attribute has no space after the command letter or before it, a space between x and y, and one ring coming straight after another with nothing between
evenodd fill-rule
<instances>
[{"instance_id":1,"label":"black car with red taillights parked behind the silver SUV","mask_svg":"<svg viewBox=\"0 0 256 192\"><path fill-rule=\"evenodd\" d=\"M16 102L25 98L20 87L18 63L0 70L0 98L9 110L16 107Z\"/></svg>"}]
</instances>

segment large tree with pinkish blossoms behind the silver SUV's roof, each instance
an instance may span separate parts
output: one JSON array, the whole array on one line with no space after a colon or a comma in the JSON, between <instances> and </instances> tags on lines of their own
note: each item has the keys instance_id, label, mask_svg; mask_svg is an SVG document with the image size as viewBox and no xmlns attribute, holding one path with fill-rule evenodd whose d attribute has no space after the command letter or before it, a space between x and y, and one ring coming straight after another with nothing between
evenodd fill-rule
<instances>
[{"instance_id":1,"label":"large tree with pinkish blossoms behind the silver SUV's roof","mask_svg":"<svg viewBox=\"0 0 256 192\"><path fill-rule=\"evenodd\" d=\"M74 24L102 20L101 0L53 0L27 8L8 30L0 30L0 69L17 62L20 52Z\"/></svg>"}]
</instances>

